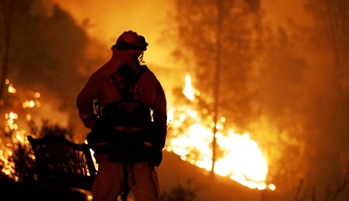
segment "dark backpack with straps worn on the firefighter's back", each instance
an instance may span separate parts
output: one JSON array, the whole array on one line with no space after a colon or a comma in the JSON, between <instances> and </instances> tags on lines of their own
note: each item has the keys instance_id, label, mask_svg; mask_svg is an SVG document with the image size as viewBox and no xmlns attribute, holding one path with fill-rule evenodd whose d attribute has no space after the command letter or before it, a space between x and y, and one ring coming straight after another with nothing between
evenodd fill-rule
<instances>
[{"instance_id":1,"label":"dark backpack with straps worn on the firefighter's back","mask_svg":"<svg viewBox=\"0 0 349 201\"><path fill-rule=\"evenodd\" d=\"M149 161L152 148L150 108L135 100L130 90L148 70L146 66L141 69L137 74L127 64L122 64L108 80L121 91L121 99L102 110L101 117L108 133L109 162Z\"/></svg>"}]
</instances>

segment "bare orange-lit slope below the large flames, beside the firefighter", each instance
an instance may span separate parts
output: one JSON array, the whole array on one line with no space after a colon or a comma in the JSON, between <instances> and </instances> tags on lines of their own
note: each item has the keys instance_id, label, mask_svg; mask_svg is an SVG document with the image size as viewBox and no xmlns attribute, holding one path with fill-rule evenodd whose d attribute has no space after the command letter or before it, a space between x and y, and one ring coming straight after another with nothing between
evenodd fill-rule
<instances>
[{"instance_id":1,"label":"bare orange-lit slope below the large flames, beside the firefighter","mask_svg":"<svg viewBox=\"0 0 349 201\"><path fill-rule=\"evenodd\" d=\"M210 201L244 201L262 200L262 191L250 189L229 178L216 175L214 178L209 172L190 163L170 152L164 152L163 160L158 170L160 191L168 191L171 187L181 183L196 189L202 200ZM270 192L270 191L269 191ZM264 193L268 193L265 191Z\"/></svg>"}]
</instances>

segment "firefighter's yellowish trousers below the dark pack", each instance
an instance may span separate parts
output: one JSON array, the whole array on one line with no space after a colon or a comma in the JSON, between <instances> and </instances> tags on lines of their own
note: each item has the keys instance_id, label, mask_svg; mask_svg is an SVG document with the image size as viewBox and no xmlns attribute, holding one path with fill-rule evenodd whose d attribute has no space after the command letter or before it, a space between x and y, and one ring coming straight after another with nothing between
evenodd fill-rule
<instances>
[{"instance_id":1,"label":"firefighter's yellowish trousers below the dark pack","mask_svg":"<svg viewBox=\"0 0 349 201\"><path fill-rule=\"evenodd\" d=\"M114 201L123 181L123 164L108 162L106 154L95 154L98 172L92 185L95 201ZM148 162L127 164L127 183L136 201L158 201L157 174Z\"/></svg>"}]
</instances>

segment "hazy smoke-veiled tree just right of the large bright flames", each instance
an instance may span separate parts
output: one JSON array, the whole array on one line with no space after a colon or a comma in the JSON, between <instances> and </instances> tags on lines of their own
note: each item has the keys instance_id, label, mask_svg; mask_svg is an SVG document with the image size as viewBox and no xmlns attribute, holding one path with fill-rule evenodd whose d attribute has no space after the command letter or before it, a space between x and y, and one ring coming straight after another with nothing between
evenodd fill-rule
<instances>
[{"instance_id":1,"label":"hazy smoke-veiled tree just right of the large bright flames","mask_svg":"<svg viewBox=\"0 0 349 201\"><path fill-rule=\"evenodd\" d=\"M251 138L268 157L268 178L284 193L292 192L307 171L305 117L300 103L306 95L306 60L290 32L270 31L259 68L254 105L261 118L251 122Z\"/></svg>"}]
</instances>

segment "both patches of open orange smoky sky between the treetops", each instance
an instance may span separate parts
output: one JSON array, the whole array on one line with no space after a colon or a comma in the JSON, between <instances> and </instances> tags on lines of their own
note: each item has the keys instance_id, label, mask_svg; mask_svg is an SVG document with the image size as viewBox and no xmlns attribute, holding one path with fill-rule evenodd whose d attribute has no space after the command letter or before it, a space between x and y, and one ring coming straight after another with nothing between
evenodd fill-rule
<instances>
[{"instance_id":1,"label":"both patches of open orange smoky sky between the treetops","mask_svg":"<svg viewBox=\"0 0 349 201\"><path fill-rule=\"evenodd\" d=\"M287 26L290 19L298 24L309 22L303 9L305 0L262 0L265 20L272 27ZM175 41L161 36L168 28L168 14L173 9L171 0L52 0L68 11L78 24L89 20L88 34L109 48L124 31L132 30L146 38L149 43L144 58L147 63L172 67L171 49ZM172 42L172 43L171 43Z\"/></svg>"}]
</instances>

